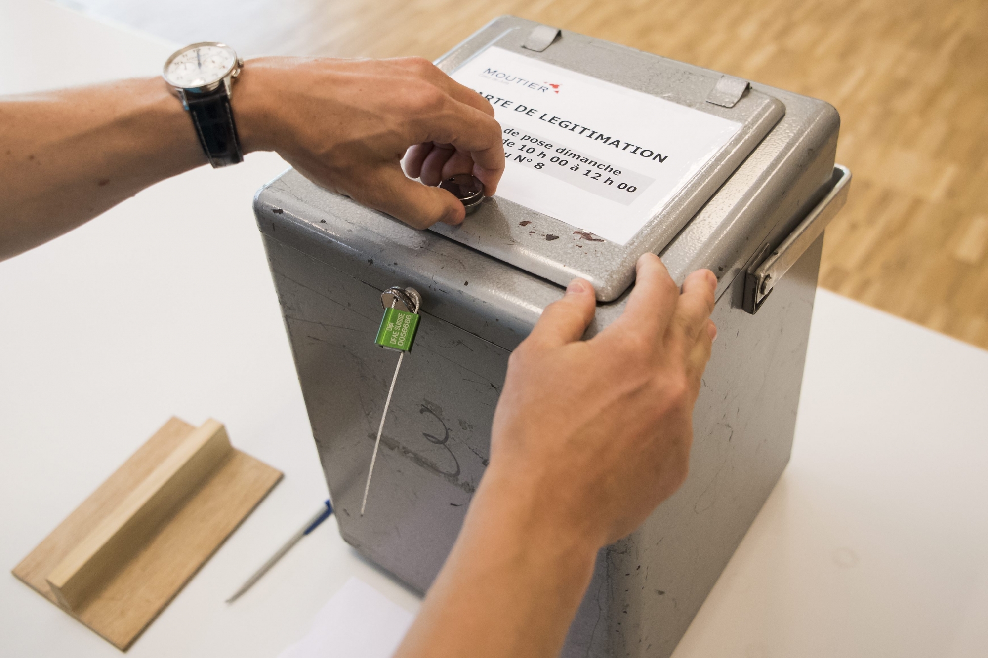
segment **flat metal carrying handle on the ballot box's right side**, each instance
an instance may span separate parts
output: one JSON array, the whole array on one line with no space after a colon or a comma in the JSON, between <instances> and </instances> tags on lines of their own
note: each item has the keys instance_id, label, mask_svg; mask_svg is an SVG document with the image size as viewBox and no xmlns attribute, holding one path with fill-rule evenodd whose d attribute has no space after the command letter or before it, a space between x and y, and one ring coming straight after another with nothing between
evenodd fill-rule
<instances>
[{"instance_id":1,"label":"flat metal carrying handle on the ballot box's right side","mask_svg":"<svg viewBox=\"0 0 988 658\"><path fill-rule=\"evenodd\" d=\"M764 261L756 260L748 268L744 291L746 311L757 313L789 268L820 237L830 220L847 202L850 183L851 170L844 165L834 165L830 192L810 210L768 258Z\"/></svg>"}]
</instances>

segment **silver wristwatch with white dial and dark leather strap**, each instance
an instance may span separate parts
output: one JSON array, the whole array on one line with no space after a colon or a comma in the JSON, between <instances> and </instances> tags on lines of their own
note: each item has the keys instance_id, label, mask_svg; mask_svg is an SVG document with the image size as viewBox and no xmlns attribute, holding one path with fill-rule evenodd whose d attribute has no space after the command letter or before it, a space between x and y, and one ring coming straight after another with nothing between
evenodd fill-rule
<instances>
[{"instance_id":1,"label":"silver wristwatch with white dial and dark leather strap","mask_svg":"<svg viewBox=\"0 0 988 658\"><path fill-rule=\"evenodd\" d=\"M213 41L187 45L165 62L165 82L189 111L213 167L244 159L230 109L233 81L240 75L241 66L243 60L233 48Z\"/></svg>"}]
</instances>

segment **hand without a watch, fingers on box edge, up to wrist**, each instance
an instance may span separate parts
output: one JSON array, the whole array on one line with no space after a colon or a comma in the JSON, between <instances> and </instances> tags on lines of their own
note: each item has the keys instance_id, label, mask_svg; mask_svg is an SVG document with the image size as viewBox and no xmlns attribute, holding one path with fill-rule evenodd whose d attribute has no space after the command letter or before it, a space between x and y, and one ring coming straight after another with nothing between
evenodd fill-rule
<instances>
[{"instance_id":1,"label":"hand without a watch, fingers on box edge, up to wrist","mask_svg":"<svg viewBox=\"0 0 988 658\"><path fill-rule=\"evenodd\" d=\"M700 270L681 293L646 254L623 314L583 341L596 302L574 280L511 356L484 484L535 526L596 547L637 528L687 475L716 285Z\"/></svg>"}]
</instances>

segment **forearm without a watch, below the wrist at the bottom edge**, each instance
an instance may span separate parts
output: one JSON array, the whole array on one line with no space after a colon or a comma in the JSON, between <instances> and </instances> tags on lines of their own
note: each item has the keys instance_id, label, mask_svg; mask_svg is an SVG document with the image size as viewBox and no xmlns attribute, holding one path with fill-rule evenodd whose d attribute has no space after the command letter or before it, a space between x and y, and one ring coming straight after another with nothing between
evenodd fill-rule
<instances>
[{"instance_id":1,"label":"forearm without a watch, below the wrist at the bottom edge","mask_svg":"<svg viewBox=\"0 0 988 658\"><path fill-rule=\"evenodd\" d=\"M596 542L557 527L523 488L489 474L396 658L558 654Z\"/></svg>"}]
</instances>

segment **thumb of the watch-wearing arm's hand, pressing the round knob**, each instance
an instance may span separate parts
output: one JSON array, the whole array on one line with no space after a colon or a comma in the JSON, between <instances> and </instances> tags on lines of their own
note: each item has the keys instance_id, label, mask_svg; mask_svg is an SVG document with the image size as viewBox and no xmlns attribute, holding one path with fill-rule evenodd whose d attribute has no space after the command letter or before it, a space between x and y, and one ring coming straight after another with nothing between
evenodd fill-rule
<instances>
[{"instance_id":1,"label":"thumb of the watch-wearing arm's hand, pressing the round knob","mask_svg":"<svg viewBox=\"0 0 988 658\"><path fill-rule=\"evenodd\" d=\"M401 219L415 228L429 228L437 221L458 224L466 216L452 194L430 188L405 176L397 164L371 170L359 185L347 190L355 201Z\"/></svg>"}]
</instances>

